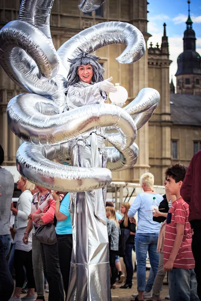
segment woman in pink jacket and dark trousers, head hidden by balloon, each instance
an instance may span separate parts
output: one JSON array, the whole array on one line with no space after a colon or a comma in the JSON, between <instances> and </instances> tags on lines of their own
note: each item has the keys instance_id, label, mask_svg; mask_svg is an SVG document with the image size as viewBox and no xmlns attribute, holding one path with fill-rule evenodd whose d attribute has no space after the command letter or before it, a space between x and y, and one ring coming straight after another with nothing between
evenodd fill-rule
<instances>
[{"instance_id":1,"label":"woman in pink jacket and dark trousers, head hidden by balloon","mask_svg":"<svg viewBox=\"0 0 201 301\"><path fill-rule=\"evenodd\" d=\"M47 192L43 198L40 199L38 210L33 214L35 228L39 225L46 225L54 222L55 201ZM59 267L57 243L47 245L41 243L41 255L43 261L44 274L49 284L49 301L63 301L63 284L61 278L61 271Z\"/></svg>"}]
</instances>

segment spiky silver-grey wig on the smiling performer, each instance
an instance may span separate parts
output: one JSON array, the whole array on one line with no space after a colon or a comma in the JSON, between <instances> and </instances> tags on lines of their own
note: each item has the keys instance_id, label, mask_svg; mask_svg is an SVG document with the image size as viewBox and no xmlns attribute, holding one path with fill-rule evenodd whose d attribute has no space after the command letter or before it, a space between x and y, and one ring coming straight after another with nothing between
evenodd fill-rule
<instances>
[{"instance_id":1,"label":"spiky silver-grey wig on the smiling performer","mask_svg":"<svg viewBox=\"0 0 201 301\"><path fill-rule=\"evenodd\" d=\"M82 52L80 50L80 53L75 59L69 59L70 69L67 76L67 88L69 86L74 85L79 81L79 76L77 74L77 68L80 65L88 65L91 64L93 67L93 76L92 76L92 82L97 83L104 80L104 68L97 62L100 60L99 57L88 54L86 52Z\"/></svg>"}]
</instances>

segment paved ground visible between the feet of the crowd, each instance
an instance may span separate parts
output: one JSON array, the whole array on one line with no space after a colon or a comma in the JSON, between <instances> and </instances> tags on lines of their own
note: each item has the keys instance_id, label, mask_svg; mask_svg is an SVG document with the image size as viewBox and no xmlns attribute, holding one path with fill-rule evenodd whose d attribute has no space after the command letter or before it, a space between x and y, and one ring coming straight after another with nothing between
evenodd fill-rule
<instances>
[{"instance_id":1,"label":"paved ground visible between the feet of the crowd","mask_svg":"<svg viewBox=\"0 0 201 301\"><path fill-rule=\"evenodd\" d=\"M147 271L147 277L149 272ZM166 278L165 278L166 281ZM132 293L137 293L137 279L136 279L136 272L134 273L133 277L133 286L132 288L128 289L122 289L120 288L122 284L117 283L116 289L112 289L112 301L130 301L132 298ZM165 296L168 294L168 285L163 285L163 290L161 291L161 298L162 301L165 301ZM21 294L21 296L24 296L24 294ZM48 293L45 293L45 299L48 301ZM55 300L57 301L57 300ZM80 300L81 301L81 300Z\"/></svg>"}]
</instances>

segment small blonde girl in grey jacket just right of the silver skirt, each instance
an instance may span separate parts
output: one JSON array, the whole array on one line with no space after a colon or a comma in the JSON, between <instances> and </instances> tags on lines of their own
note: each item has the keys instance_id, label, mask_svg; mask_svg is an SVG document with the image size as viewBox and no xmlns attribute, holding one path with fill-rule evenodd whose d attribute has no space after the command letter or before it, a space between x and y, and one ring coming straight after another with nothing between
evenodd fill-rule
<instances>
[{"instance_id":1,"label":"small blonde girl in grey jacket just right of the silver skirt","mask_svg":"<svg viewBox=\"0 0 201 301\"><path fill-rule=\"evenodd\" d=\"M107 229L109 236L109 245L110 245L110 266L111 266L111 288L116 288L116 277L117 277L117 268L115 265L115 258L119 250L119 234L120 228L119 223L116 217L116 211L114 207L106 207L106 216Z\"/></svg>"}]
</instances>

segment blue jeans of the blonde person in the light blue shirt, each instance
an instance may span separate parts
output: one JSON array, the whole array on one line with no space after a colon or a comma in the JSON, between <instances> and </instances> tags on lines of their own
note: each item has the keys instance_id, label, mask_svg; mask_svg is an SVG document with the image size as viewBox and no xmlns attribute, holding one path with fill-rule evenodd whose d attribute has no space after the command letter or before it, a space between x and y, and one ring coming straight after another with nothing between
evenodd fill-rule
<instances>
[{"instance_id":1,"label":"blue jeans of the blonde person in the light blue shirt","mask_svg":"<svg viewBox=\"0 0 201 301\"><path fill-rule=\"evenodd\" d=\"M156 251L157 241L158 233L137 233L135 235L138 291L145 290L147 252L149 253L149 260L154 278L156 276L159 260L159 254Z\"/></svg>"}]
</instances>

